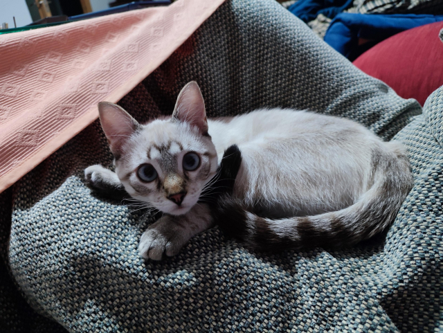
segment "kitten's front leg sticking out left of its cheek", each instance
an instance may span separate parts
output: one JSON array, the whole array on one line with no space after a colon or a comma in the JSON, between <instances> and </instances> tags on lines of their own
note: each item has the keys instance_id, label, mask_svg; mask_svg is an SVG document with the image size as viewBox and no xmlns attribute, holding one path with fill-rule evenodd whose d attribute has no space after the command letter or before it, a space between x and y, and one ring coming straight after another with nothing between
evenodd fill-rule
<instances>
[{"instance_id":1,"label":"kitten's front leg sticking out left of its cheek","mask_svg":"<svg viewBox=\"0 0 443 333\"><path fill-rule=\"evenodd\" d=\"M91 165L86 168L84 170L84 179L91 188L105 197L120 199L127 196L127 192L123 184L120 183L117 174L102 167L102 165Z\"/></svg>"}]
</instances>

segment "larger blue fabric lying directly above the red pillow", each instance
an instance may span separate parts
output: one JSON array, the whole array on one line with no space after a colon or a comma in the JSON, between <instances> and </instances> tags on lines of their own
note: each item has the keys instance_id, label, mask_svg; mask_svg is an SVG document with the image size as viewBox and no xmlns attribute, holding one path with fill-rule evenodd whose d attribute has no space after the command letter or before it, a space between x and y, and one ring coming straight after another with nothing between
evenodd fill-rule
<instances>
[{"instance_id":1,"label":"larger blue fabric lying directly above the red pillow","mask_svg":"<svg viewBox=\"0 0 443 333\"><path fill-rule=\"evenodd\" d=\"M342 12L338 14L326 31L325 42L351 61L383 39L396 33L443 21L443 15L366 15ZM359 39L368 39L368 44L359 46Z\"/></svg>"}]
</instances>

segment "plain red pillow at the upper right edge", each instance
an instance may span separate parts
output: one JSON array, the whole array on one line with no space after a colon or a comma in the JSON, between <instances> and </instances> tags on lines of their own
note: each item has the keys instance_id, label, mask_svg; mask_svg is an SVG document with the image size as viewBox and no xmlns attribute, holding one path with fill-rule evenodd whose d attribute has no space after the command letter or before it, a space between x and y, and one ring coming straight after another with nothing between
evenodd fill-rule
<instances>
[{"instance_id":1,"label":"plain red pillow at the upper right edge","mask_svg":"<svg viewBox=\"0 0 443 333\"><path fill-rule=\"evenodd\" d=\"M426 98L443 85L443 21L398 33L360 55L354 65L403 98Z\"/></svg>"}]
</instances>

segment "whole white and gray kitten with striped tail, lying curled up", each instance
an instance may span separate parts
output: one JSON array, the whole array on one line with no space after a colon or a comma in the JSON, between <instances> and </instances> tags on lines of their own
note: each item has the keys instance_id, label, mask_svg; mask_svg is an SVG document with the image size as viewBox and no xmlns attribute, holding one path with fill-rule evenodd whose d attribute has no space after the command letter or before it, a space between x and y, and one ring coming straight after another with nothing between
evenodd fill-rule
<instances>
[{"instance_id":1,"label":"whole white and gray kitten with striped tail, lying curled up","mask_svg":"<svg viewBox=\"0 0 443 333\"><path fill-rule=\"evenodd\" d=\"M98 108L116 172L92 165L86 179L165 213L141 236L143 258L175 255L215 222L257 250L355 244L392 222L413 184L401 145L352 120L291 109L207 119L196 82L172 117L146 125L109 102ZM224 190L213 184L232 146L232 192L206 204Z\"/></svg>"}]
</instances>

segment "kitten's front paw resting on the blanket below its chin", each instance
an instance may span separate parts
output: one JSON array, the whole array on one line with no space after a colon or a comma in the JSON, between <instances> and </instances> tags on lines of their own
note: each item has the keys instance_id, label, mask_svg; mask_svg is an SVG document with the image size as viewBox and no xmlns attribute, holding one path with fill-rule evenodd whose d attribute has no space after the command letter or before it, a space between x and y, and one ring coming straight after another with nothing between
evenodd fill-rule
<instances>
[{"instance_id":1,"label":"kitten's front paw resting on the blanket below its chin","mask_svg":"<svg viewBox=\"0 0 443 333\"><path fill-rule=\"evenodd\" d=\"M143 233L138 253L145 259L161 260L163 255L172 257L179 253L188 239L183 228L174 223L174 217L163 216Z\"/></svg>"}]
</instances>

